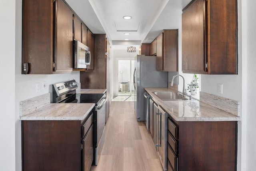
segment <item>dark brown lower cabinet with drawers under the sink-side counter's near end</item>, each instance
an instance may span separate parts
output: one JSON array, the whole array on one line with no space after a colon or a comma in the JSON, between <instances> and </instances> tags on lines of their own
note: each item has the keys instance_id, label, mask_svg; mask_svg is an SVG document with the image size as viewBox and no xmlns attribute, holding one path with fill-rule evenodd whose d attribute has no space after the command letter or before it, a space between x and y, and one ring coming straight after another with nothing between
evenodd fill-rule
<instances>
[{"instance_id":1,"label":"dark brown lower cabinet with drawers under the sink-side counter's near end","mask_svg":"<svg viewBox=\"0 0 256 171\"><path fill-rule=\"evenodd\" d=\"M168 171L236 171L237 121L169 121Z\"/></svg>"}]
</instances>

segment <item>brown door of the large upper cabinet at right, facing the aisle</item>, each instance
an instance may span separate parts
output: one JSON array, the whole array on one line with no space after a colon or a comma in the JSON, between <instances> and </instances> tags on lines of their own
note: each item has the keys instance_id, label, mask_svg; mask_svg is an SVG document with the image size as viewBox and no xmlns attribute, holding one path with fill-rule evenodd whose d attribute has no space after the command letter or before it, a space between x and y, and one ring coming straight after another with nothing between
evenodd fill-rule
<instances>
[{"instance_id":1,"label":"brown door of the large upper cabinet at right, facing the aisle","mask_svg":"<svg viewBox=\"0 0 256 171\"><path fill-rule=\"evenodd\" d=\"M182 13L182 72L206 72L205 10L205 0L195 0Z\"/></svg>"}]
</instances>

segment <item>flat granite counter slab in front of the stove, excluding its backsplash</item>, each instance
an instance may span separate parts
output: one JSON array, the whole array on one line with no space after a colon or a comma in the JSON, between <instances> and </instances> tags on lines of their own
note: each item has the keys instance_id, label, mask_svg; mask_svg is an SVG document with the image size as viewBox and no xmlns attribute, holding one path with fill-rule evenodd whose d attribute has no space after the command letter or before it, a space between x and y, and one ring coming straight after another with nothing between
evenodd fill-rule
<instances>
[{"instance_id":1,"label":"flat granite counter slab in front of the stove, excluding its backsplash","mask_svg":"<svg viewBox=\"0 0 256 171\"><path fill-rule=\"evenodd\" d=\"M94 103L49 103L20 120L84 120L95 106Z\"/></svg>"}]
</instances>

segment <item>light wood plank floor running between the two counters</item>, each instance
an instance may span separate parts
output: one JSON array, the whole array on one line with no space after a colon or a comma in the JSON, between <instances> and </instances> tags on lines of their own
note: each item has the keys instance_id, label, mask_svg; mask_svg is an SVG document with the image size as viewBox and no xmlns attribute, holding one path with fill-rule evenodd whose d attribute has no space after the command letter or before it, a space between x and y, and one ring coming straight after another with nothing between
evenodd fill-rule
<instances>
[{"instance_id":1,"label":"light wood plank floor running between the two counters","mask_svg":"<svg viewBox=\"0 0 256 171\"><path fill-rule=\"evenodd\" d=\"M162 171L151 135L137 122L134 102L112 101L106 140L97 166L91 171Z\"/></svg>"}]
</instances>

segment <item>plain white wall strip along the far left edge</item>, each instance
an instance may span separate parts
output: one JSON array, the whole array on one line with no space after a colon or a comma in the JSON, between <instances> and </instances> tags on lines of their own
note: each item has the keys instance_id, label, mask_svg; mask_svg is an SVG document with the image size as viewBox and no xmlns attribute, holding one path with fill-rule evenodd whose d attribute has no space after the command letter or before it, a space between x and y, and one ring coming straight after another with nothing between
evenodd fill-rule
<instances>
[{"instance_id":1,"label":"plain white wall strip along the far left edge","mask_svg":"<svg viewBox=\"0 0 256 171\"><path fill-rule=\"evenodd\" d=\"M15 0L0 0L0 170L15 170Z\"/></svg>"}]
</instances>

